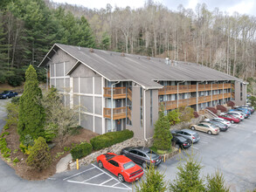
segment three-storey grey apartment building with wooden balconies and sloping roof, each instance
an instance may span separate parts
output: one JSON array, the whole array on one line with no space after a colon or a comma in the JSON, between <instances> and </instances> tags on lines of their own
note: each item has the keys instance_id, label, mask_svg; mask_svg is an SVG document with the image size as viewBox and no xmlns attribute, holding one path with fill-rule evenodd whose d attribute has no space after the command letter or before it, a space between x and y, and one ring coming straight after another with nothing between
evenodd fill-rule
<instances>
[{"instance_id":1,"label":"three-storey grey apartment building with wooden balconies and sloping roof","mask_svg":"<svg viewBox=\"0 0 256 192\"><path fill-rule=\"evenodd\" d=\"M80 126L104 134L123 129L147 140L154 134L162 104L165 113L179 106L246 102L246 83L209 67L168 58L55 44L40 65L66 106L80 107Z\"/></svg>"}]
</instances>

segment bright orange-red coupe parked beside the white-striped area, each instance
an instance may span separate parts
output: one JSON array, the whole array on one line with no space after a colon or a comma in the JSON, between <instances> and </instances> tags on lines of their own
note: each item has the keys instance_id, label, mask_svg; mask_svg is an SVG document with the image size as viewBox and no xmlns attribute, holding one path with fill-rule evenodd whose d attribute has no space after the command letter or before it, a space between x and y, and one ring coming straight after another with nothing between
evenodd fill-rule
<instances>
[{"instance_id":1,"label":"bright orange-red coupe parked beside the white-striped area","mask_svg":"<svg viewBox=\"0 0 256 192\"><path fill-rule=\"evenodd\" d=\"M112 174L117 175L119 182L135 182L144 174L140 166L124 155L100 154L97 162L100 168L106 168Z\"/></svg>"}]
</instances>

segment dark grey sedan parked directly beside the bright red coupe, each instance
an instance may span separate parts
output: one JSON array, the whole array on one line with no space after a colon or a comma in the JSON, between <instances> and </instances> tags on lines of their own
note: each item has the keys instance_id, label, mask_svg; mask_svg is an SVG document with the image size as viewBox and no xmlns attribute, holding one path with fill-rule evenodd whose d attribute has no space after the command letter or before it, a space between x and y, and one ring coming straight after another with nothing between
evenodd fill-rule
<instances>
[{"instance_id":1,"label":"dark grey sedan parked directly beside the bright red coupe","mask_svg":"<svg viewBox=\"0 0 256 192\"><path fill-rule=\"evenodd\" d=\"M150 163L154 166L158 166L161 163L161 156L148 147L126 147L121 149L121 154L141 164L142 168L147 168Z\"/></svg>"}]
</instances>

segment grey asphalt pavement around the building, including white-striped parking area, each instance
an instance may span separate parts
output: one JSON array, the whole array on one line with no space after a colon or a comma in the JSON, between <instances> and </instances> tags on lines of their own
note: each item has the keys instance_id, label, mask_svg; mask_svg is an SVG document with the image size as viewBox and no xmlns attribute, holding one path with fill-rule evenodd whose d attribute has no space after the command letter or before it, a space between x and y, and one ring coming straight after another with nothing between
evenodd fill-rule
<instances>
[{"instance_id":1,"label":"grey asphalt pavement around the building, including white-striped parking area","mask_svg":"<svg viewBox=\"0 0 256 192\"><path fill-rule=\"evenodd\" d=\"M0 99L0 129L4 125L6 113L4 102ZM204 166L202 176L214 173L219 169L225 176L225 182L231 191L240 192L256 189L256 113L248 120L233 124L225 133L208 135L201 132L201 140L188 150L163 162L158 169L165 174L166 181L176 178L177 165L183 163L187 154L193 153ZM139 181L140 182L140 181ZM106 169L100 169L95 163L83 166L79 170L70 170L53 175L45 181L26 181L15 174L0 159L0 191L133 191L134 184L120 183L117 177Z\"/></svg>"}]
</instances>

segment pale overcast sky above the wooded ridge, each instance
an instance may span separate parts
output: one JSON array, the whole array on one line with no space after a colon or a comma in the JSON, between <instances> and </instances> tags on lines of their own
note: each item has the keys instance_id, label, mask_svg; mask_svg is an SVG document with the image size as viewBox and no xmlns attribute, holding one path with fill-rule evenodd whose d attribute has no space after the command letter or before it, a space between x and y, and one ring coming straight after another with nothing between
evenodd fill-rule
<instances>
[{"instance_id":1,"label":"pale overcast sky above the wooded ridge","mask_svg":"<svg viewBox=\"0 0 256 192\"><path fill-rule=\"evenodd\" d=\"M70 3L83 5L87 8L100 9L106 8L107 3L113 7L139 8L144 5L145 0L52 0L57 3ZM177 10L179 4L183 4L184 8L195 10L197 3L206 3L209 10L218 7L219 10L229 12L230 15L234 11L240 14L256 16L256 0L156 0L155 2L163 3L170 10Z\"/></svg>"}]
</instances>

